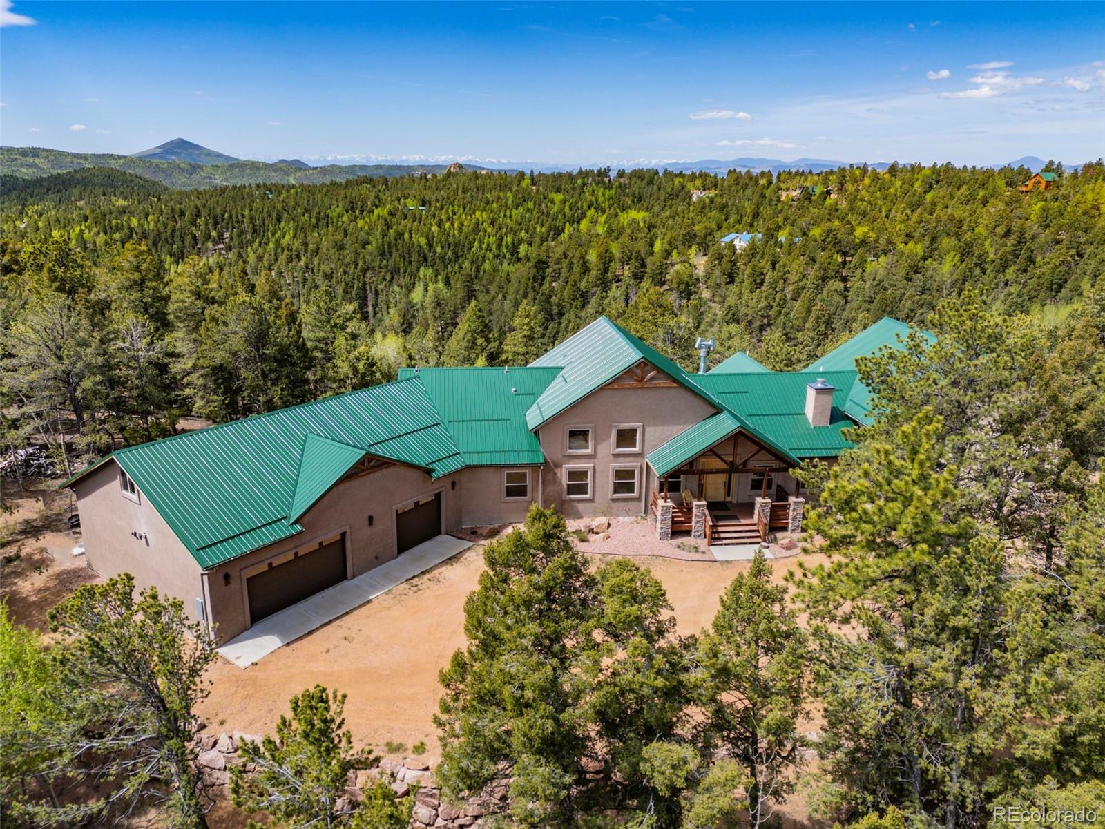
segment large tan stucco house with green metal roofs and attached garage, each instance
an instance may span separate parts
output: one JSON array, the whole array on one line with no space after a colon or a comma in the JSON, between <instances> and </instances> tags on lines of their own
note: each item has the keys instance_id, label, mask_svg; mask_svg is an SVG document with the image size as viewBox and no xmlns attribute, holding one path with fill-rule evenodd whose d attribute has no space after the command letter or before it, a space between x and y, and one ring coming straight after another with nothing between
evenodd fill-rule
<instances>
[{"instance_id":1,"label":"large tan stucco house with green metal roofs and attached garage","mask_svg":"<svg viewBox=\"0 0 1105 829\"><path fill-rule=\"evenodd\" d=\"M801 529L791 472L849 448L870 409L855 357L907 329L881 321L803 371L736 354L696 374L599 317L528 366L406 368L120 448L64 485L94 569L180 598L224 640L532 504L759 543Z\"/></svg>"}]
</instances>

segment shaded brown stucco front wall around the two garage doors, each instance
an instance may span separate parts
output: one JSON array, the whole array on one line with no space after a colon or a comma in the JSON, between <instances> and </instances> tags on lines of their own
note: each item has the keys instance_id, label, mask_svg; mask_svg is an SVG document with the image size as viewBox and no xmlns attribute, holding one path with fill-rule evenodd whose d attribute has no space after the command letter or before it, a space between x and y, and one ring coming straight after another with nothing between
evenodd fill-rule
<instances>
[{"instance_id":1,"label":"shaded brown stucco front wall around the two garage doors","mask_svg":"<svg viewBox=\"0 0 1105 829\"><path fill-rule=\"evenodd\" d=\"M299 518L302 533L240 556L207 574L211 617L218 622L219 636L230 639L250 626L243 570L344 532L349 577L359 576L396 557L396 507L412 499L440 491L444 531L461 526L462 479L457 473L431 481L421 470L389 466L339 483ZM369 515L372 516L371 526L368 525Z\"/></svg>"}]
</instances>

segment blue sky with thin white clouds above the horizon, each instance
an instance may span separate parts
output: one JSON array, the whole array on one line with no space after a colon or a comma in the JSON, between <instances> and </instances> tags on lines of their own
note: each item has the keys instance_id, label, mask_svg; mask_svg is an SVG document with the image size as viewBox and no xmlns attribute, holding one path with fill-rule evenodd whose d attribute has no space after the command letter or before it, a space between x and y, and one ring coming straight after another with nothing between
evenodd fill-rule
<instances>
[{"instance_id":1,"label":"blue sky with thin white clouds above the horizon","mask_svg":"<svg viewBox=\"0 0 1105 829\"><path fill-rule=\"evenodd\" d=\"M1099 3L0 0L0 143L245 158L1105 154Z\"/></svg>"}]
</instances>

